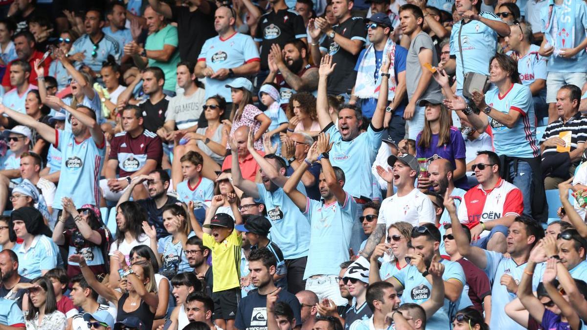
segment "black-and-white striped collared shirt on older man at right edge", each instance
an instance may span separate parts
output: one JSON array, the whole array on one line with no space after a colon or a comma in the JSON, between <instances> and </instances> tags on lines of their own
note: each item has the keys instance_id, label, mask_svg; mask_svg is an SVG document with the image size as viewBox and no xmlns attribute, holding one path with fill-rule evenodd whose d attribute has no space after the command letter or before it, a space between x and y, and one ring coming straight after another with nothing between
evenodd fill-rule
<instances>
[{"instance_id":1,"label":"black-and-white striped collared shirt on older man at right edge","mask_svg":"<svg viewBox=\"0 0 587 330\"><path fill-rule=\"evenodd\" d=\"M559 117L546 126L540 143L544 143L551 137L561 137L566 134L571 135L571 150L569 151L577 149L579 143L585 143L585 140L587 140L587 117L583 117L581 112L577 112L566 123L562 117ZM557 147L545 147L544 151L542 151L542 159L548 154L555 154L556 149Z\"/></svg>"}]
</instances>

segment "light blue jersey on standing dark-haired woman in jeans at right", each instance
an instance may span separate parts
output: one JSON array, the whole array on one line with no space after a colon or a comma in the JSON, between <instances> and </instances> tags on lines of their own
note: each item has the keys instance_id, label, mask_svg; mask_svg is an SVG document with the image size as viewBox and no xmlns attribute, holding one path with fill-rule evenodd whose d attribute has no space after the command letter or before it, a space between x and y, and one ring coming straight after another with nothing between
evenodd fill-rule
<instances>
[{"instance_id":1,"label":"light blue jersey on standing dark-haired woman in jeans at right","mask_svg":"<svg viewBox=\"0 0 587 330\"><path fill-rule=\"evenodd\" d=\"M534 158L539 155L536 141L536 116L532 93L527 86L512 84L505 95L500 96L495 88L485 93L485 103L502 113L514 110L520 113L518 121L511 129L488 117L493 132L495 153L511 157Z\"/></svg>"}]
</instances>

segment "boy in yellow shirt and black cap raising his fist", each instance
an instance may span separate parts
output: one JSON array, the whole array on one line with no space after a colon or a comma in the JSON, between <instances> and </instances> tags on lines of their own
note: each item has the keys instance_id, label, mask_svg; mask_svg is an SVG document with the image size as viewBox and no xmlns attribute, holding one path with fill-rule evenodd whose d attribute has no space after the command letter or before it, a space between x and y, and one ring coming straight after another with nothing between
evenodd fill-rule
<instances>
[{"instance_id":1,"label":"boy in yellow shirt and black cap raising his fist","mask_svg":"<svg viewBox=\"0 0 587 330\"><path fill-rule=\"evenodd\" d=\"M222 329L233 330L238 303L241 300L240 263L241 232L235 229L242 224L240 213L235 213L235 220L226 213L216 214L218 207L224 204L224 196L212 198L210 210L206 214L204 225L191 221L194 233L201 238L204 245L212 250L212 299L214 315L212 318Z\"/></svg>"}]
</instances>

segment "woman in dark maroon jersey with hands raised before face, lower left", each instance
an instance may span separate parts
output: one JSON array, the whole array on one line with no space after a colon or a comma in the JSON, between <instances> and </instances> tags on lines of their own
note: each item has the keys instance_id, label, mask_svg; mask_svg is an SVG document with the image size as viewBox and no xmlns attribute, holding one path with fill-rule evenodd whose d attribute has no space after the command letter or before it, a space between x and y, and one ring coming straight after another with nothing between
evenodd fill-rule
<instances>
[{"instance_id":1,"label":"woman in dark maroon jersey with hands raised before face, lower left","mask_svg":"<svg viewBox=\"0 0 587 330\"><path fill-rule=\"evenodd\" d=\"M68 249L68 257L72 254L83 254L94 274L107 274L109 268L106 252L112 235L102 222L99 208L85 204L77 209L68 197L63 197L61 204L63 211L53 229L53 241ZM66 229L70 216L75 226ZM79 265L69 262L67 271L68 276L73 278L80 273Z\"/></svg>"}]
</instances>

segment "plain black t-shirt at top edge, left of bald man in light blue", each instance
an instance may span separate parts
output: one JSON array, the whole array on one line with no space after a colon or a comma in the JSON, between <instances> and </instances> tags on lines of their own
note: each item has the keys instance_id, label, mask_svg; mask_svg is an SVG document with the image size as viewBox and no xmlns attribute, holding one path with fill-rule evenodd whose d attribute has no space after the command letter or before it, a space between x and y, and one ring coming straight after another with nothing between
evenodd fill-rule
<instances>
[{"instance_id":1,"label":"plain black t-shirt at top edge, left of bald man in light blue","mask_svg":"<svg viewBox=\"0 0 587 330\"><path fill-rule=\"evenodd\" d=\"M204 42L217 35L214 30L216 5L211 1L208 4L210 14L204 14L199 9L190 12L188 7L171 6L171 20L177 22L177 45L183 61L197 63Z\"/></svg>"}]
</instances>

